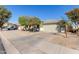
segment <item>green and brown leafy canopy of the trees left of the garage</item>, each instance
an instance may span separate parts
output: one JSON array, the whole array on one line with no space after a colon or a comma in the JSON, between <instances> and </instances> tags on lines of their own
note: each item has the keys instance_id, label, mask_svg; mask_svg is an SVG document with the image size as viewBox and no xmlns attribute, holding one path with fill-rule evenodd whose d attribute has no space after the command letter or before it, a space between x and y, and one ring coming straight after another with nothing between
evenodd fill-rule
<instances>
[{"instance_id":1,"label":"green and brown leafy canopy of the trees left of the garage","mask_svg":"<svg viewBox=\"0 0 79 59\"><path fill-rule=\"evenodd\" d=\"M40 25L41 21L37 17L21 16L19 17L19 24L21 24L21 26Z\"/></svg>"}]
</instances>

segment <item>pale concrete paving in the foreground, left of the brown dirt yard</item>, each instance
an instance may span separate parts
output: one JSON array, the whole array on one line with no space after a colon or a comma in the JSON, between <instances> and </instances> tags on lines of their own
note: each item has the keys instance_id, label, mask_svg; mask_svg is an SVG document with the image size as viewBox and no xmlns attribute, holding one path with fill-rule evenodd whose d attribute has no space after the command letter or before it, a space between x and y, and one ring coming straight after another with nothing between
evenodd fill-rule
<instances>
[{"instance_id":1,"label":"pale concrete paving in the foreground, left of the brown dirt yard","mask_svg":"<svg viewBox=\"0 0 79 59\"><path fill-rule=\"evenodd\" d=\"M43 32L2 31L2 42L7 53L12 54L77 54L78 50L55 44L50 38L56 35ZM59 38L58 38L59 39ZM56 39L57 40L57 39Z\"/></svg>"}]
</instances>

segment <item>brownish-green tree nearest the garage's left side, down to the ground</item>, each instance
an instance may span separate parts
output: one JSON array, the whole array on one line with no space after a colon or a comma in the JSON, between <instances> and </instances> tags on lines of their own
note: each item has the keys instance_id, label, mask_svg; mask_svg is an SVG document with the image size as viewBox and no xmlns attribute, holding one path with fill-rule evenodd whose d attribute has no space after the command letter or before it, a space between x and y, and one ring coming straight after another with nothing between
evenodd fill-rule
<instances>
[{"instance_id":1,"label":"brownish-green tree nearest the garage's left side, down to the ground","mask_svg":"<svg viewBox=\"0 0 79 59\"><path fill-rule=\"evenodd\" d=\"M29 20L29 29L31 31L36 31L37 29L40 29L41 20L38 17L30 17Z\"/></svg>"}]
</instances>

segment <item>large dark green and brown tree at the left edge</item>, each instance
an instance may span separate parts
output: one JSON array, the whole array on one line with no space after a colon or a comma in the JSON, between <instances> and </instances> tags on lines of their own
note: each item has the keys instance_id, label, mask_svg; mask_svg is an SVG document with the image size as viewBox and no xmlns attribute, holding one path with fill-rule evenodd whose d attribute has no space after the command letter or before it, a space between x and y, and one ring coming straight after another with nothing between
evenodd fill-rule
<instances>
[{"instance_id":1,"label":"large dark green and brown tree at the left edge","mask_svg":"<svg viewBox=\"0 0 79 59\"><path fill-rule=\"evenodd\" d=\"M0 6L0 28L3 26L5 22L8 22L11 15L12 14L9 10L4 8L3 6Z\"/></svg>"}]
</instances>

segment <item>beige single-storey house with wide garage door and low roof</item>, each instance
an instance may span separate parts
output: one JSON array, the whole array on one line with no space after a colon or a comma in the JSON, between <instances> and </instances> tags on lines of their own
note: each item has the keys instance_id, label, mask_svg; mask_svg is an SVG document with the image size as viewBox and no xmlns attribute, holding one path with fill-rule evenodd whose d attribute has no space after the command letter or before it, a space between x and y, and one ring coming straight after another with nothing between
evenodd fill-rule
<instances>
[{"instance_id":1,"label":"beige single-storey house with wide garage door and low roof","mask_svg":"<svg viewBox=\"0 0 79 59\"><path fill-rule=\"evenodd\" d=\"M59 22L58 20L44 21L43 26L40 28L40 31L57 33L58 22Z\"/></svg>"}]
</instances>

